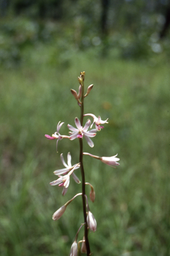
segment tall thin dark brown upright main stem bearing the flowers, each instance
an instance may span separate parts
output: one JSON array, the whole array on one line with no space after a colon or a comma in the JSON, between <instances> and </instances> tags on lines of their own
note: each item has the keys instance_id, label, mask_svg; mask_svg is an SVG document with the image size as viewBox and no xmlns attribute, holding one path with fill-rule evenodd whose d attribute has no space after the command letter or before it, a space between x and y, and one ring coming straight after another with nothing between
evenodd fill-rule
<instances>
[{"instance_id":1,"label":"tall thin dark brown upright main stem bearing the flowers","mask_svg":"<svg viewBox=\"0 0 170 256\"><path fill-rule=\"evenodd\" d=\"M82 97L81 97L81 114L80 114L80 123L83 126L83 118L84 118L84 80L82 82ZM83 214L84 214L84 237L86 242L87 256L90 256L90 245L88 241L88 225L87 225L87 215L86 215L86 191L85 191L85 175L84 175L84 167L83 167L83 143L82 138L79 139L80 143L80 169L82 174L82 205L83 205Z\"/></svg>"}]
</instances>

